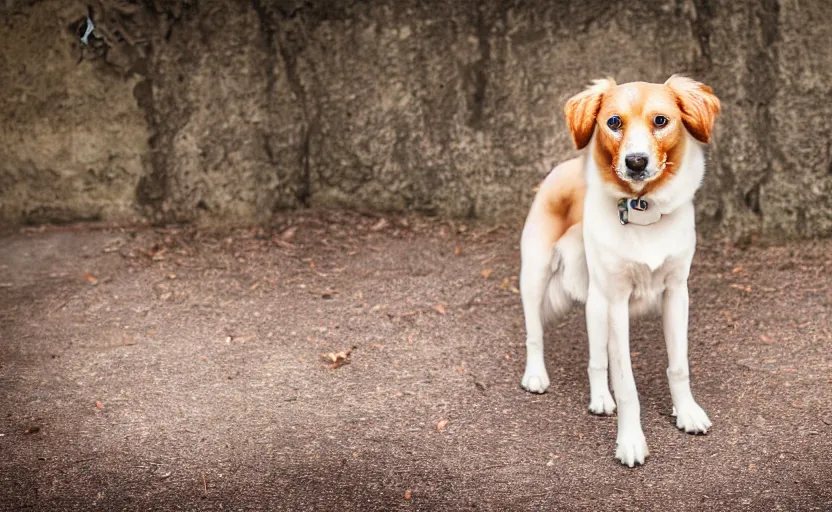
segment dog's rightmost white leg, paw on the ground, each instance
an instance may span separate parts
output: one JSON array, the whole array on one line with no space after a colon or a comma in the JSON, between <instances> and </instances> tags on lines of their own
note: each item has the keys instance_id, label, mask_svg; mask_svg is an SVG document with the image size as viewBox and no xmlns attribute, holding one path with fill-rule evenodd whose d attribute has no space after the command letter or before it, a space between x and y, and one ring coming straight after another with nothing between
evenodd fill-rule
<instances>
[{"instance_id":1,"label":"dog's rightmost white leg, paw on the ground","mask_svg":"<svg viewBox=\"0 0 832 512\"><path fill-rule=\"evenodd\" d=\"M691 434L705 433L711 420L693 399L688 367L688 285L687 280L667 283L662 307L664 339L667 344L667 381L676 413L676 426Z\"/></svg>"}]
</instances>

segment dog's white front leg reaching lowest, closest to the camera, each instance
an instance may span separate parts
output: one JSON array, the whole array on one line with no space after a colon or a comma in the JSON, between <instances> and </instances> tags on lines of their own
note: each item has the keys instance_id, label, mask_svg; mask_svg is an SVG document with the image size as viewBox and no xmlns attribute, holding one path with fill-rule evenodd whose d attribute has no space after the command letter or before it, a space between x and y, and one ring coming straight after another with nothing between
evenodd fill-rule
<instances>
[{"instance_id":1,"label":"dog's white front leg reaching lowest, closest to the camera","mask_svg":"<svg viewBox=\"0 0 832 512\"><path fill-rule=\"evenodd\" d=\"M612 388L618 405L615 456L622 464L644 464L647 442L641 429L641 404L630 361L630 293L616 293L608 300L609 355Z\"/></svg>"}]
</instances>

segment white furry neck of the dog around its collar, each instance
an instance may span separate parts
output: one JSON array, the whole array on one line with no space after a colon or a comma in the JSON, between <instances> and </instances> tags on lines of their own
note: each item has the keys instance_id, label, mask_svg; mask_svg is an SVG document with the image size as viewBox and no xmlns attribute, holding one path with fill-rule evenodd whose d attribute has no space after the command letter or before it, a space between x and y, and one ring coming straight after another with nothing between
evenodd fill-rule
<instances>
[{"instance_id":1,"label":"white furry neck of the dog around its collar","mask_svg":"<svg viewBox=\"0 0 832 512\"><path fill-rule=\"evenodd\" d=\"M585 171L587 194L601 196L610 204L618 205L622 199L639 199L647 203L647 209L658 212L661 215L669 215L680 206L693 202L696 191L702 184L705 176L705 151L704 146L694 139L690 134L685 133L685 152L682 161L675 170L675 175L664 185L644 195L636 193L624 193L615 185L601 179L599 169L592 155L594 153L595 140L588 146L585 156ZM638 215L641 215L640 213ZM651 224L657 222L651 216L642 216L644 220L637 223Z\"/></svg>"}]
</instances>

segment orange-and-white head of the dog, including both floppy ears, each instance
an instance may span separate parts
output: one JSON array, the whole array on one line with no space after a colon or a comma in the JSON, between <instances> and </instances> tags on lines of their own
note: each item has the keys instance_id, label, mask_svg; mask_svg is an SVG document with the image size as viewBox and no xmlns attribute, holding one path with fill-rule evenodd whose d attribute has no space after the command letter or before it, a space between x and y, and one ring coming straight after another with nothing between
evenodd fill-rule
<instances>
[{"instance_id":1,"label":"orange-and-white head of the dog, including both floppy ears","mask_svg":"<svg viewBox=\"0 0 832 512\"><path fill-rule=\"evenodd\" d=\"M601 178L644 195L681 167L685 130L701 143L710 140L720 104L707 85L673 76L664 84L596 80L564 110L578 149L595 137L591 157Z\"/></svg>"}]
</instances>

